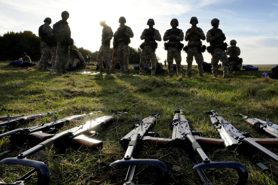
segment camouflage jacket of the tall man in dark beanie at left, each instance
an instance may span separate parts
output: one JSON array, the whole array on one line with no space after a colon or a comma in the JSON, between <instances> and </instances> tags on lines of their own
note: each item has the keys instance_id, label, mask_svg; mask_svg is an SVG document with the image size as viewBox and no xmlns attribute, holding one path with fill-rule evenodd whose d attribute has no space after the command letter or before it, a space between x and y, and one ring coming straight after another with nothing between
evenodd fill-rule
<instances>
[{"instance_id":1,"label":"camouflage jacket of the tall man in dark beanie at left","mask_svg":"<svg viewBox=\"0 0 278 185\"><path fill-rule=\"evenodd\" d=\"M70 37L71 32L69 28L69 23L67 21L60 20L53 25L53 34L56 34L57 41L65 39L65 37Z\"/></svg>"}]
</instances>

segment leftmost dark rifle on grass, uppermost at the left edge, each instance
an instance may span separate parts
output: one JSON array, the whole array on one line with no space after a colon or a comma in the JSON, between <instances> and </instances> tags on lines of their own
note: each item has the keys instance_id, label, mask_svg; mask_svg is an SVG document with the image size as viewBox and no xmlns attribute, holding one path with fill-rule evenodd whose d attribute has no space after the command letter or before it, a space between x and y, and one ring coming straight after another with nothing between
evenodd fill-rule
<instances>
[{"instance_id":1,"label":"leftmost dark rifle on grass, uppermost at the left edge","mask_svg":"<svg viewBox=\"0 0 278 185\"><path fill-rule=\"evenodd\" d=\"M50 116L52 114L57 113L58 111L52 111L47 113L41 113L41 114L27 114L23 116L16 117L15 119L9 119L8 121L4 121L0 123L0 132L5 132L10 128L17 127L17 125L22 125L23 123L29 123L31 121L34 121L35 119L44 117L44 116Z\"/></svg>"}]
</instances>

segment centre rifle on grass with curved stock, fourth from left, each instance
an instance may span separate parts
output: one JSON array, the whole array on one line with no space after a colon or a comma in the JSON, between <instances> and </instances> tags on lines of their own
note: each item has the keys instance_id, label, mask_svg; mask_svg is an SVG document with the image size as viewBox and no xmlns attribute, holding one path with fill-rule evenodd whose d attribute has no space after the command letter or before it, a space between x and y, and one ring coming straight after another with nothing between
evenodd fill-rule
<instances>
[{"instance_id":1,"label":"centre rifle on grass with curved stock, fourth from left","mask_svg":"<svg viewBox=\"0 0 278 185\"><path fill-rule=\"evenodd\" d=\"M127 147L127 151L122 160L112 162L109 166L129 166L127 176L125 178L125 185L135 185L133 180L134 171L137 165L152 166L157 171L157 179L153 184L163 184L167 176L167 167L163 162L156 159L134 159L133 153L135 151L136 144L143 140L144 136L155 136L154 132L150 132L151 127L156 123L156 119L160 117L160 113L155 116L149 116L147 118L140 118L140 122L133 125L133 129L127 135L125 135L120 143Z\"/></svg>"}]
</instances>

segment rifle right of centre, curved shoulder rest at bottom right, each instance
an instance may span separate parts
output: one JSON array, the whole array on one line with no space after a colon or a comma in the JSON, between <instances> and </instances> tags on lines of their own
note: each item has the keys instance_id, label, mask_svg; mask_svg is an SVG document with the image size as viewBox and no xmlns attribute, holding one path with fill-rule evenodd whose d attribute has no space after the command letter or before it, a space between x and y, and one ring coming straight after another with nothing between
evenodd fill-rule
<instances>
[{"instance_id":1,"label":"rifle right of centre, curved shoulder rest at bottom right","mask_svg":"<svg viewBox=\"0 0 278 185\"><path fill-rule=\"evenodd\" d=\"M193 150L200 156L202 163L198 163L195 157L191 156L191 162L193 163L193 169L197 170L203 185L211 185L209 179L206 177L203 169L211 168L232 168L238 174L239 180L237 185L246 184L248 179L248 172L246 168L239 162L214 162L206 156L199 143L220 147L223 145L224 140L215 138L200 137L201 133L191 131L189 127L189 121L186 120L185 115L182 114L183 110L173 110L175 115L171 121L171 127L173 128L172 140L174 144L182 145L189 143ZM151 143L156 144L157 138L151 138L148 140Z\"/></svg>"}]
</instances>

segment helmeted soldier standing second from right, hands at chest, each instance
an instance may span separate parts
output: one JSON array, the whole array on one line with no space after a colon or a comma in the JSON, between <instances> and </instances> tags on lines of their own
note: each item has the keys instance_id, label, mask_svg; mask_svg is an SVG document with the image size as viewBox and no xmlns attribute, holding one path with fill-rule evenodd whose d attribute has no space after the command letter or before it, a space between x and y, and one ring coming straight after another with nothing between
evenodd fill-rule
<instances>
[{"instance_id":1,"label":"helmeted soldier standing second from right, hands at chest","mask_svg":"<svg viewBox=\"0 0 278 185\"><path fill-rule=\"evenodd\" d=\"M197 68L199 71L199 76L203 77L203 67L202 62L204 62L204 57L202 55L202 40L206 39L206 36L203 30L196 26L198 24L197 17L191 17L190 22L192 26L185 32L184 40L188 41L187 46L185 47L185 52L187 53L186 57L186 77L191 77L191 68L193 62L193 56L197 63Z\"/></svg>"}]
</instances>

